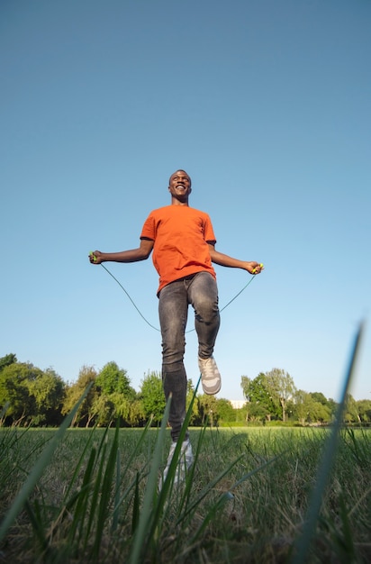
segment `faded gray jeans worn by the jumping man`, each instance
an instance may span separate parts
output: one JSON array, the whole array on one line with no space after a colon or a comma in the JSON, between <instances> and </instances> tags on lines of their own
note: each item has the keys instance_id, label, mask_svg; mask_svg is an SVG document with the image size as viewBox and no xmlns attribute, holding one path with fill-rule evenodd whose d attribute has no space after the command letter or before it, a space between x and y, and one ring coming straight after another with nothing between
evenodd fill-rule
<instances>
[{"instance_id":1,"label":"faded gray jeans worn by the jumping man","mask_svg":"<svg viewBox=\"0 0 371 564\"><path fill-rule=\"evenodd\" d=\"M168 423L176 441L185 420L186 374L185 325L188 305L195 310L198 356L213 354L220 325L218 288L209 272L198 272L163 287L158 296L158 314L162 335L162 381L166 398L171 393Z\"/></svg>"}]
</instances>

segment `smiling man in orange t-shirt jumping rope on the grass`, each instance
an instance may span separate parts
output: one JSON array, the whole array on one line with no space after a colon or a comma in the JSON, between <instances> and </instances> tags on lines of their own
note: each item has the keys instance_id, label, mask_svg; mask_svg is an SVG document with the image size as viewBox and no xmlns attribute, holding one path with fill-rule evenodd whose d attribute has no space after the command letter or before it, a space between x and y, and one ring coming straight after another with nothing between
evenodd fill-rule
<instances>
[{"instance_id":1,"label":"smiling man in orange t-shirt jumping rope on the grass","mask_svg":"<svg viewBox=\"0 0 371 564\"><path fill-rule=\"evenodd\" d=\"M185 325L188 305L195 310L195 332L198 338L198 366L205 394L217 394L222 379L213 358L213 349L220 325L218 289L213 264L242 268L258 274L263 265L256 261L232 259L215 250L215 235L210 217L188 205L192 182L185 170L171 175L168 191L171 205L149 214L140 234L137 249L121 252L90 253L92 264L104 261L136 262L148 259L153 250L153 264L158 271L158 315L162 336L162 382L166 399L172 396L168 423L172 444L164 471L164 479L185 420L186 374ZM181 456L188 469L193 453L188 432ZM185 468L183 468L183 478Z\"/></svg>"}]
</instances>

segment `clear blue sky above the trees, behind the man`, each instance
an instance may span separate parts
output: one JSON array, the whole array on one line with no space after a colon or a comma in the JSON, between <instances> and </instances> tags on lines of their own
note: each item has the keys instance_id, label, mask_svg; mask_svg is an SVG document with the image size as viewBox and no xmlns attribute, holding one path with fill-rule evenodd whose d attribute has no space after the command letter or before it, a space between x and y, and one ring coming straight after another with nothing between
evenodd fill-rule
<instances>
[{"instance_id":1,"label":"clear blue sky above the trees, behind the man","mask_svg":"<svg viewBox=\"0 0 371 564\"><path fill-rule=\"evenodd\" d=\"M160 335L89 250L137 247L185 168L218 250L266 269L222 312L219 397L283 368L370 398L371 4L3 0L0 356L68 382L114 360L136 389ZM106 263L158 326L151 259ZM249 275L216 267L221 306ZM189 329L192 329L189 312ZM185 367L198 378L195 332Z\"/></svg>"}]
</instances>

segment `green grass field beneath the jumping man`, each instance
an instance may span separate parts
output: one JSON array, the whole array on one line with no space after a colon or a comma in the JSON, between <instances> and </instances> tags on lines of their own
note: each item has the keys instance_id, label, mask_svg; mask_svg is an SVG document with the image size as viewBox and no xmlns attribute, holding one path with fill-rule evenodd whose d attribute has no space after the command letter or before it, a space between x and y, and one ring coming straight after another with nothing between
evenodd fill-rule
<instances>
[{"instance_id":1,"label":"green grass field beneath the jumping man","mask_svg":"<svg viewBox=\"0 0 371 564\"><path fill-rule=\"evenodd\" d=\"M329 433L191 429L194 467L183 486L170 476L158 494L164 424L61 437L0 429L2 518L14 508L0 561L295 562L306 537L305 561L369 562L370 432L339 433L326 487L315 494Z\"/></svg>"}]
</instances>

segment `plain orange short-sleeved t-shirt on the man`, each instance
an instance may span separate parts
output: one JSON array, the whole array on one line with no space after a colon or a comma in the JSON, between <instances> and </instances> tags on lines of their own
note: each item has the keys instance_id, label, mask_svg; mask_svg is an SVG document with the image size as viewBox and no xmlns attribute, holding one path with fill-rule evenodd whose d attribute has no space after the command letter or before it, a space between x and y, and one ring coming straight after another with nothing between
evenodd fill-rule
<instances>
[{"instance_id":1,"label":"plain orange short-sleeved t-shirt on the man","mask_svg":"<svg viewBox=\"0 0 371 564\"><path fill-rule=\"evenodd\" d=\"M208 247L216 239L208 214L187 205L160 207L149 214L140 239L155 241L152 259L159 275L158 292L196 272L216 277Z\"/></svg>"}]
</instances>

